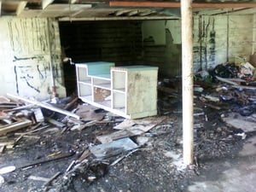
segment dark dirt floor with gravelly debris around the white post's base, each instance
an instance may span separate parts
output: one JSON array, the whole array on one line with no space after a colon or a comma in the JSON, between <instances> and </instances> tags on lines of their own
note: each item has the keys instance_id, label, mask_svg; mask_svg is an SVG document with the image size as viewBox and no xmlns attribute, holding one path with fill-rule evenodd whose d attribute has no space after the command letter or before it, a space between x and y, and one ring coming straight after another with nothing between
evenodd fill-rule
<instances>
[{"instance_id":1,"label":"dark dirt floor with gravelly debris around the white post's base","mask_svg":"<svg viewBox=\"0 0 256 192\"><path fill-rule=\"evenodd\" d=\"M154 117L161 119L160 123L139 136L130 137L138 148L102 159L91 154L89 148L99 144L96 137L116 131L113 127L124 119L100 110L95 115L102 115L103 119L81 130L43 123L41 127L48 126L22 137L0 155L0 169L15 166L15 171L1 175L4 182L0 191L188 191L196 180L218 177L224 171L218 162L235 157L247 138L254 135L250 132L243 138L239 135L241 130L224 123L221 116L230 112L230 104L224 103L221 109L209 108L198 96L195 98L194 165L184 168L180 96L163 94L160 98L159 116ZM79 105L86 108L81 102ZM65 117L55 117L58 118ZM31 131L31 127L16 133L26 131ZM17 137L9 133L0 137L0 142ZM53 179L49 181L49 178Z\"/></svg>"}]
</instances>

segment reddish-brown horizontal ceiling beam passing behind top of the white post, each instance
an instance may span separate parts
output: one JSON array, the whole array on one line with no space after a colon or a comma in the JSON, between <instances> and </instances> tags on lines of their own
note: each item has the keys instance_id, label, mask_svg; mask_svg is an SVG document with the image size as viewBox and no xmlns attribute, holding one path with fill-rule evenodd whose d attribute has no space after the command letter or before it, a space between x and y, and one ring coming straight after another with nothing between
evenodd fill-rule
<instances>
[{"instance_id":1,"label":"reddish-brown horizontal ceiling beam passing behind top of the white post","mask_svg":"<svg viewBox=\"0 0 256 192\"><path fill-rule=\"evenodd\" d=\"M178 2L109 1L110 7L180 8ZM256 8L256 3L192 3L192 8Z\"/></svg>"}]
</instances>

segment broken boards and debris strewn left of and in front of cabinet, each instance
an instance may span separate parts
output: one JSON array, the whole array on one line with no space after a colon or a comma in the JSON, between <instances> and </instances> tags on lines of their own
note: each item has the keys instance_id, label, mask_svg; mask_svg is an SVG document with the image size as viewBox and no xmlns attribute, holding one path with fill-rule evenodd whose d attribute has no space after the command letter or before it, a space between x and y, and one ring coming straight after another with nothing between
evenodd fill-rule
<instances>
[{"instance_id":1,"label":"broken boards and debris strewn left of and in front of cabinet","mask_svg":"<svg viewBox=\"0 0 256 192\"><path fill-rule=\"evenodd\" d=\"M42 190L66 190L78 177L88 184L103 177L109 166L115 166L137 152L149 137L153 137L150 135L143 139L140 136L150 134L148 131L166 119L124 119L86 103L79 103L77 97L64 98L53 104L8 95L1 97L0 108L1 154L8 156L15 152L17 158L21 158L24 155L22 151L26 149L27 158L32 156L32 160L20 161L18 165L4 162L0 171L10 166L15 168L0 172L0 186L8 186L15 175L26 172L26 180L41 182ZM95 127L101 129L97 135L81 135L81 131ZM69 138L71 132L77 136ZM82 137L90 137L91 140L83 140ZM69 145L67 140L72 140L73 144ZM63 145L68 147L63 148ZM61 170L49 172L47 176L32 171L60 160L66 165L68 162L68 165L64 169L62 167Z\"/></svg>"}]
</instances>

